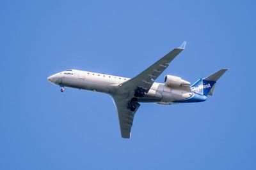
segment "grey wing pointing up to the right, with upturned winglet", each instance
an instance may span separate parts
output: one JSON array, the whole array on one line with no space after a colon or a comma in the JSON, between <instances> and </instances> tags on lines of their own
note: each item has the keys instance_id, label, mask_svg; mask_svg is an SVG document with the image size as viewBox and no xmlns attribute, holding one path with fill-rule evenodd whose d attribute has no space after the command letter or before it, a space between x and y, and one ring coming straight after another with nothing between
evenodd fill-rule
<instances>
[{"instance_id":1,"label":"grey wing pointing up to the right, with upturned winglet","mask_svg":"<svg viewBox=\"0 0 256 170\"><path fill-rule=\"evenodd\" d=\"M124 94L126 92L131 92L136 89L143 89L143 92L148 92L148 90L152 87L156 78L163 73L163 71L169 66L169 63L184 50L186 46L186 41L180 45L179 48L173 49L171 52L164 55L163 58L159 59L152 66L148 67L142 73L138 74L138 76L125 81L120 84L120 88L116 91L118 94Z\"/></svg>"}]
</instances>

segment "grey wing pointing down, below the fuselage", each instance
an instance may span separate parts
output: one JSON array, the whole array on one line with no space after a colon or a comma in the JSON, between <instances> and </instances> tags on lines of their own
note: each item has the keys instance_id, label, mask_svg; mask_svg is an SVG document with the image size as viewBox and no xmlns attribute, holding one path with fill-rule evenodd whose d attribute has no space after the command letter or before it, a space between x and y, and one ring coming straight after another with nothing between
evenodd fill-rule
<instances>
[{"instance_id":1,"label":"grey wing pointing down, below the fuselage","mask_svg":"<svg viewBox=\"0 0 256 170\"><path fill-rule=\"evenodd\" d=\"M113 101L116 105L116 110L118 112L118 119L119 119L122 138L131 138L131 128L132 128L133 118L136 111L140 107L140 104L135 103L136 109L134 111L131 111L130 109L127 108L130 101L127 99L124 99L124 97L115 96L113 97Z\"/></svg>"}]
</instances>

